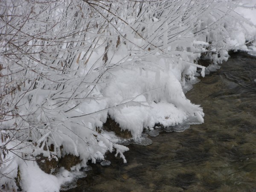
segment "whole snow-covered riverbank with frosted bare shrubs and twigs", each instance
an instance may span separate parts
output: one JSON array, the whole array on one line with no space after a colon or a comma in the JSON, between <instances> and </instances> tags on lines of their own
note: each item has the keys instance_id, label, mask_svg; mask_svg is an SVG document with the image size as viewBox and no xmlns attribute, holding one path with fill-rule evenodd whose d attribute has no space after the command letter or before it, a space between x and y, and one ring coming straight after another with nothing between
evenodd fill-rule
<instances>
[{"instance_id":1,"label":"whole snow-covered riverbank with frosted bare shrubs and twigs","mask_svg":"<svg viewBox=\"0 0 256 192\"><path fill-rule=\"evenodd\" d=\"M211 59L216 68L229 50L256 52L253 0L5 0L0 6L4 190L58 191L107 151L126 163L125 139L104 128L107 119L133 141L156 125L204 122L203 109L184 95L207 72L198 60ZM64 157L76 163L41 170Z\"/></svg>"}]
</instances>

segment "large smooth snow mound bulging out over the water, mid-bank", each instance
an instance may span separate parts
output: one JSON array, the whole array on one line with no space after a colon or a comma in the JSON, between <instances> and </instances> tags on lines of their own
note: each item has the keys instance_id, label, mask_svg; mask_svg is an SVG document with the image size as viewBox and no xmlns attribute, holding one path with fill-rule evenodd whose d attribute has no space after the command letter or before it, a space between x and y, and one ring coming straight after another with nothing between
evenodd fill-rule
<instances>
[{"instance_id":1,"label":"large smooth snow mound bulging out over the water, mid-bank","mask_svg":"<svg viewBox=\"0 0 256 192\"><path fill-rule=\"evenodd\" d=\"M181 80L174 75L181 74L185 67L173 70L170 65L163 71L118 71L103 90L103 95L111 98L110 105L116 106L108 111L111 118L135 138L140 137L143 128L153 128L157 123L177 125L196 111L204 116L198 105L186 99Z\"/></svg>"}]
</instances>

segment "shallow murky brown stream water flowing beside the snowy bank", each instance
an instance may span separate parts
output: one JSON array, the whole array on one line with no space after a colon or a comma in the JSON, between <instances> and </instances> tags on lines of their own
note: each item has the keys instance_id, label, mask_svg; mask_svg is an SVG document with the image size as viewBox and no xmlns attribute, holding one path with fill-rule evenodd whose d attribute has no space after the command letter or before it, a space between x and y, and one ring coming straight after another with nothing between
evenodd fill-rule
<instances>
[{"instance_id":1,"label":"shallow murky brown stream water flowing beside the snowy bank","mask_svg":"<svg viewBox=\"0 0 256 192\"><path fill-rule=\"evenodd\" d=\"M204 124L130 144L126 164L91 164L75 191L256 192L256 57L235 53L186 93ZM255 81L254 81L255 80Z\"/></svg>"}]
</instances>

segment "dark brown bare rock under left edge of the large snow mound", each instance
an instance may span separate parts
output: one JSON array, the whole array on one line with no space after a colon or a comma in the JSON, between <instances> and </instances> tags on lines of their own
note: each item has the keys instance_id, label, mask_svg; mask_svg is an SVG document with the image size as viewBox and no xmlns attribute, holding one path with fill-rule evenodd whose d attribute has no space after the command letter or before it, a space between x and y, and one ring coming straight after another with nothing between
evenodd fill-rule
<instances>
[{"instance_id":1,"label":"dark brown bare rock under left edge of the large snow mound","mask_svg":"<svg viewBox=\"0 0 256 192\"><path fill-rule=\"evenodd\" d=\"M115 120L111 119L110 116L108 116L107 121L104 123L103 129L105 129L106 131L113 131L117 136L125 139L132 137L131 131L122 130L120 125L115 122Z\"/></svg>"}]
</instances>

